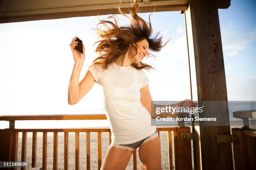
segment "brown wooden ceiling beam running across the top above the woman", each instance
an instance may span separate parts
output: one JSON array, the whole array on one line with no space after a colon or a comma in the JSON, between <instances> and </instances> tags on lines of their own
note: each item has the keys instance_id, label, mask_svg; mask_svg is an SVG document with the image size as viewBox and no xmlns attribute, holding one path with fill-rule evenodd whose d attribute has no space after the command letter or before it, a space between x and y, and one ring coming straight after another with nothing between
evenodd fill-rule
<instances>
[{"instance_id":1,"label":"brown wooden ceiling beam running across the top above the woman","mask_svg":"<svg viewBox=\"0 0 256 170\"><path fill-rule=\"evenodd\" d=\"M225 1L225 0L217 0ZM0 0L0 23L118 14L119 0ZM141 13L184 11L188 0L138 0ZM125 13L131 0L122 0Z\"/></svg>"}]
</instances>

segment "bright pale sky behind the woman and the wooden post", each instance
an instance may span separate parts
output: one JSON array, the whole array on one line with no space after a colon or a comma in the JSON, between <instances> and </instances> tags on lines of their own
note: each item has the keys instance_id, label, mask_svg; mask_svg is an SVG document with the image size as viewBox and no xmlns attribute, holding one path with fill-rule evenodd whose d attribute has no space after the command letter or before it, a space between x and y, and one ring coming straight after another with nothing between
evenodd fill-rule
<instances>
[{"instance_id":1,"label":"bright pale sky behind the woman and the wooden post","mask_svg":"<svg viewBox=\"0 0 256 170\"><path fill-rule=\"evenodd\" d=\"M232 0L228 9L219 9L228 100L256 100L256 2ZM148 21L150 13L139 16ZM122 15L121 25L128 25ZM101 15L105 19L108 15ZM168 21L168 22L166 22ZM98 40L97 16L38 20L0 24L0 115L86 114L103 112L102 87L95 83L77 105L68 105L68 85L73 69L69 44L78 36L85 45L86 59L80 79L95 59L93 44ZM156 68L147 72L153 100L190 98L189 67L184 14L155 12L151 15L154 33L161 31L163 42L171 39L161 52L146 61ZM143 59L145 62L146 59ZM24 122L24 121L23 121ZM45 128L44 121L16 121L15 127ZM43 123L42 123L43 122ZM69 122L69 123L67 123ZM97 123L97 121L95 121ZM72 127L95 126L92 121L58 121ZM55 125L56 122L48 122ZM101 123L108 126L108 122ZM0 121L0 128L8 122Z\"/></svg>"}]
</instances>

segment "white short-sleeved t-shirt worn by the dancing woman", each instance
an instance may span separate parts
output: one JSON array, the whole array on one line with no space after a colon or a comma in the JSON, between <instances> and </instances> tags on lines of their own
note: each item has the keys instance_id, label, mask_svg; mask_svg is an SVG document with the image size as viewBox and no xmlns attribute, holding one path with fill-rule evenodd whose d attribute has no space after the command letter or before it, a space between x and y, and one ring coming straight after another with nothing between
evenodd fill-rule
<instances>
[{"instance_id":1,"label":"white short-sleeved t-shirt worn by the dancing woman","mask_svg":"<svg viewBox=\"0 0 256 170\"><path fill-rule=\"evenodd\" d=\"M140 100L140 89L149 82L143 70L122 67L115 62L108 65L107 70L100 65L89 70L103 88L104 108L110 121L113 143L135 143L155 132L156 126L151 126L151 116Z\"/></svg>"}]
</instances>

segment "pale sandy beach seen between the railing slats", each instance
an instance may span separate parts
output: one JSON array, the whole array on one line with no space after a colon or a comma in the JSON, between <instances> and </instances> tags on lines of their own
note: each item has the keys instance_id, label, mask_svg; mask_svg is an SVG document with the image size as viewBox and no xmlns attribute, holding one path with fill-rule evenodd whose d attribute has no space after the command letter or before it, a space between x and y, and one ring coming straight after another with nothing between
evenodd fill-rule
<instances>
[{"instance_id":1,"label":"pale sandy beach seen between the railing slats","mask_svg":"<svg viewBox=\"0 0 256 170\"><path fill-rule=\"evenodd\" d=\"M28 134L28 136L30 136ZM69 169L75 169L75 145L74 145L75 136L74 133L69 133ZM160 132L161 140L161 165L162 170L169 170L168 163L168 143L167 143L167 132ZM22 133L19 133L19 142L18 142L18 160L21 159L21 143L22 143ZM42 145L43 138L41 134L38 133L37 137L37 155L36 155L36 167L42 166ZM105 154L108 150L109 140L108 133L102 133L102 161L105 157ZM31 166L31 156L32 155L32 138L27 138L27 152L26 160ZM79 133L79 163L80 169L86 170L86 133ZM174 161L174 160L173 160ZM174 164L173 164L174 165ZM48 133L47 137L47 170L51 170L53 167L53 133ZM31 169L31 168L26 168ZM64 133L58 134L58 170L64 169ZM91 133L91 170L97 170L97 133ZM137 169L141 170L140 161L138 157L138 148L137 148ZM127 165L126 170L133 170L133 156Z\"/></svg>"}]
</instances>

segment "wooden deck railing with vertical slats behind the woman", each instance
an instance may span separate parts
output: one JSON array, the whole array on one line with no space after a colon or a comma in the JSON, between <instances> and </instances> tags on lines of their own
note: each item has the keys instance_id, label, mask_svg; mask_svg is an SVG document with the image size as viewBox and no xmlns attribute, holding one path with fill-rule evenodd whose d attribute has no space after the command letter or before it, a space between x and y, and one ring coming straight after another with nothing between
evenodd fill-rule
<instances>
[{"instance_id":1,"label":"wooden deck railing with vertical slats behind the woman","mask_svg":"<svg viewBox=\"0 0 256 170\"><path fill-rule=\"evenodd\" d=\"M188 114L173 115L173 117L185 117ZM86 157L87 157L87 170L90 170L90 133L97 132L97 153L98 153L98 169L100 170L102 164L102 146L101 146L101 135L104 132L109 133L109 145L111 143L111 132L109 128L64 128L64 129L15 129L15 120L105 120L105 114L101 115L15 115L15 116L0 116L0 120L10 121L10 128L5 130L0 130L0 137L5 138L5 145L8 143L8 148L2 148L4 153L8 153L8 158L5 159L9 161L17 161L18 155L18 133L22 133L22 146L21 146L21 161L26 161L26 142L27 133L32 132L32 168L36 167L36 140L37 132L43 133L43 154L42 154L42 168L46 170L47 168L47 133L54 133L54 147L53 147L53 169L58 168L58 133L64 132L64 169L69 168L69 137L70 132L75 133L75 168L79 170L79 133L86 133ZM191 170L192 169L192 154L191 154L191 141L186 140L187 135L184 133L190 133L189 127L161 127L157 128L158 134L160 131L166 131L168 133L168 151L169 151L169 169L173 169L173 157L174 157L174 167L176 170ZM173 141L172 143L172 132ZM182 135L183 134L183 135ZM7 138L6 138L7 137ZM2 142L3 143L3 142ZM174 146L174 155L172 152L172 145ZM137 158L135 150L133 152L133 169L137 169ZM1 158L4 160L4 158ZM25 168L22 168L25 169Z\"/></svg>"}]
</instances>

